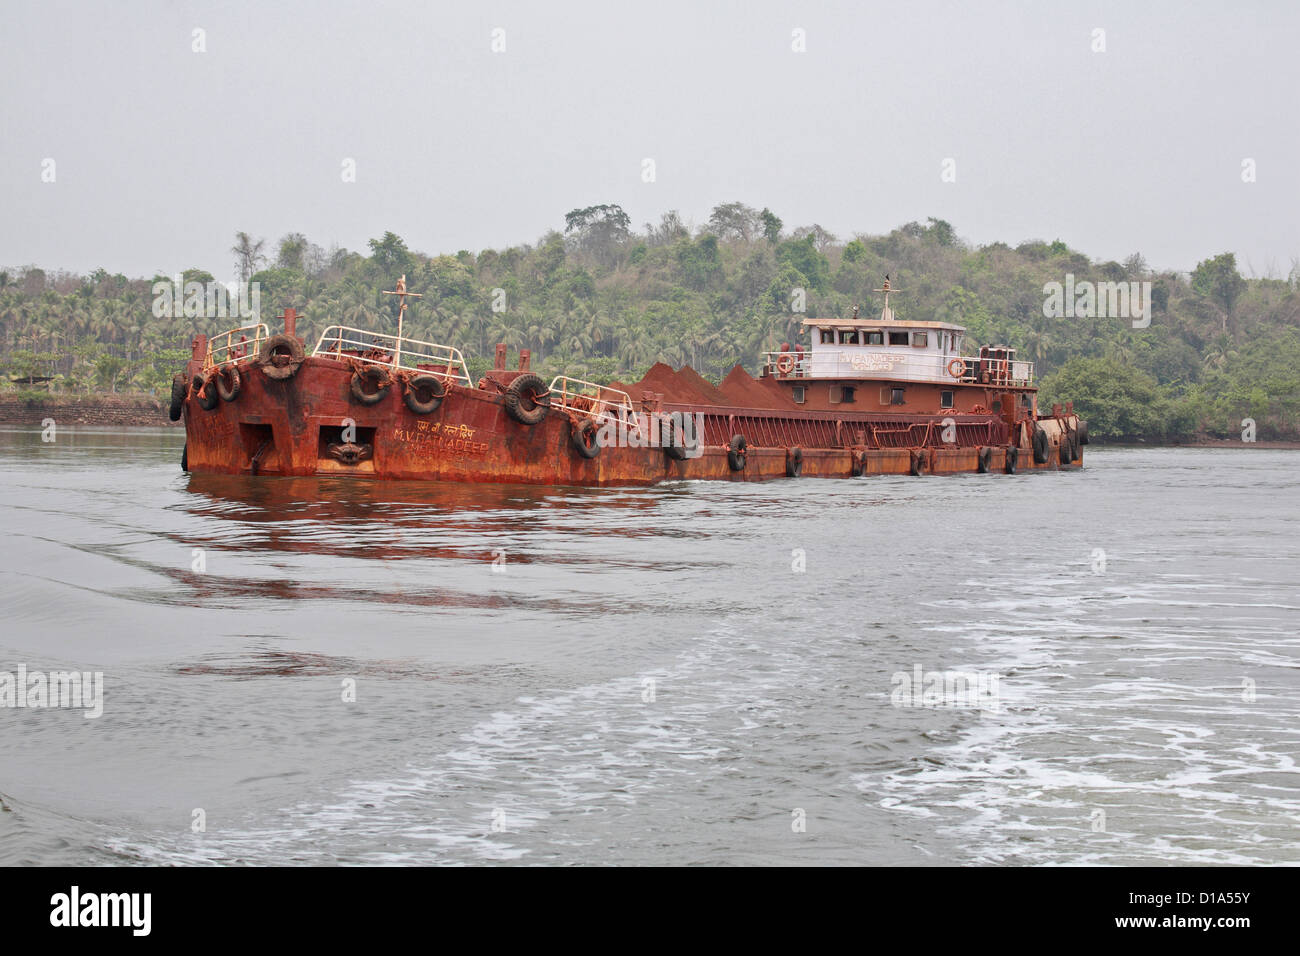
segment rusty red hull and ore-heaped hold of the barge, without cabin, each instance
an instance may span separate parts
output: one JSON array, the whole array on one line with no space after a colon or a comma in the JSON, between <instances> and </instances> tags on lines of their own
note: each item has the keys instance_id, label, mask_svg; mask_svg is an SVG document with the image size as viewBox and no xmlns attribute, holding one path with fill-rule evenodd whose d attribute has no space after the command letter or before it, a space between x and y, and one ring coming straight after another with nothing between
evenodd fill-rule
<instances>
[{"instance_id":1,"label":"rusty red hull and ore-heaped hold of the barge, without cabin","mask_svg":"<svg viewBox=\"0 0 1300 956\"><path fill-rule=\"evenodd\" d=\"M203 388L191 388L183 403L188 468L194 472L650 485L682 479L786 477L793 457L801 459L797 471L806 477L944 475L978 471L985 447L992 450L988 470L1001 472L1013 441L1019 446L1017 470L1078 467L1082 462L1080 449L1078 460L1062 464L1061 445L1078 433L1078 416L1069 406L1054 408L1057 416L1045 419L1014 418L1011 410L1002 416L952 410L801 408L774 392L771 382L750 378L744 369L733 369L718 388L692 369L675 372L660 364L641 382L627 386L633 406L642 414L698 416L703 425L699 454L681 458L655 446L610 446L592 455L589 434L588 454L582 454L582 441L575 440L588 420L581 402L556 403L533 425L511 416L507 392L526 372L528 356L520 356L517 371L507 371L500 347L494 368L477 386L448 381L441 405L428 414L412 411L403 399L416 369L393 369L382 394L370 401L373 388L367 386L363 402L352 384L364 363L329 354L303 358L287 377L281 377L283 355L269 367L244 363L237 394L213 405L207 381L220 367L205 367L207 356L207 339L199 336L186 377L198 376ZM382 385L384 377L378 381ZM1044 463L1034 460L1035 424L1050 442ZM749 446L738 470L728 458L733 436L744 436Z\"/></svg>"}]
</instances>

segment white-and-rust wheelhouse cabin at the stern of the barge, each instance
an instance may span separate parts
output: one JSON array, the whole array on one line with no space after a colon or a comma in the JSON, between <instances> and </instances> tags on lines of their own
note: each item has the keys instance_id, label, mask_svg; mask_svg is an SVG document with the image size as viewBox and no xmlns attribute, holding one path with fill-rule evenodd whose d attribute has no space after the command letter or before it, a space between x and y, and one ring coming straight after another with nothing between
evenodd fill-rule
<instances>
[{"instance_id":1,"label":"white-and-rust wheelhouse cabin at the stern of the barge","mask_svg":"<svg viewBox=\"0 0 1300 956\"><path fill-rule=\"evenodd\" d=\"M888 291L888 285L885 291ZM805 319L809 345L764 354L763 376L810 411L1036 415L1034 364L1002 345L962 351L966 329L879 319ZM801 336L802 338L802 336Z\"/></svg>"}]
</instances>

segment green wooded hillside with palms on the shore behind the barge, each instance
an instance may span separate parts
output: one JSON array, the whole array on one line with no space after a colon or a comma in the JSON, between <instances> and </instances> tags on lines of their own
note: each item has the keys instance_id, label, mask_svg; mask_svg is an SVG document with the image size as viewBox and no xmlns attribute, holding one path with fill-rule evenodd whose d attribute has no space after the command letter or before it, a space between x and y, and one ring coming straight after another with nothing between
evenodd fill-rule
<instances>
[{"instance_id":1,"label":"green wooded hillside with palms on the shore behind the barge","mask_svg":"<svg viewBox=\"0 0 1300 956\"><path fill-rule=\"evenodd\" d=\"M559 224L558 224L559 225ZM292 233L268 245L246 233L231 248L240 280L260 289L261 317L295 307L315 345L328 325L395 332L384 290L407 277L406 334L456 346L477 377L493 346L530 349L545 377L636 381L655 362L690 364L712 381L733 365L757 373L760 352L798 342L807 316L880 311L885 274L900 320L967 328L967 352L1004 343L1036 363L1044 402L1074 401L1092 434L1173 441L1238 437L1253 419L1261 440L1300 438L1300 264L1286 277L1243 277L1232 252L1190 273L1157 272L1140 254L1096 261L1061 241L1017 246L962 241L942 220L885 235L786 229L770 209L715 207L693 226L676 212L634 229L619 206L571 211L534 245L454 255L408 248L394 233L365 254L322 248ZM1149 282L1150 323L1049 317L1044 289ZM0 271L0 382L48 401L100 393L165 394L195 333L239 319L156 310L172 276L127 278ZM213 282L195 267L183 282ZM802 311L801 311L802 307ZM156 312L162 311L162 315Z\"/></svg>"}]
</instances>

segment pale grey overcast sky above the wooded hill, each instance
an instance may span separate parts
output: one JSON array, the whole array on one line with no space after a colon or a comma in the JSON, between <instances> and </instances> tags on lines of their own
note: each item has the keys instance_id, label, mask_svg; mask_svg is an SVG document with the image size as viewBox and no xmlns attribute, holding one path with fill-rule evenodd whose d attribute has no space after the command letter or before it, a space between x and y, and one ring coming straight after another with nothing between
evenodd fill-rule
<instances>
[{"instance_id":1,"label":"pale grey overcast sky above the wooded hill","mask_svg":"<svg viewBox=\"0 0 1300 956\"><path fill-rule=\"evenodd\" d=\"M1297 27L1286 0L5 0L0 264L230 278L237 230L437 254L738 199L840 237L935 216L1286 276Z\"/></svg>"}]
</instances>

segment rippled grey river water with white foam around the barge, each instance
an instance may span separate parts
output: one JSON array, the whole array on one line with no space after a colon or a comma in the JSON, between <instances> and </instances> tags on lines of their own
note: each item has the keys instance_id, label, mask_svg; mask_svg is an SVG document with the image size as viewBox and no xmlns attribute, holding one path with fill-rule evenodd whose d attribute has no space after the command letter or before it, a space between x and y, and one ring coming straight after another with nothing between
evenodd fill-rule
<instances>
[{"instance_id":1,"label":"rippled grey river water with white foam around the barge","mask_svg":"<svg viewBox=\"0 0 1300 956\"><path fill-rule=\"evenodd\" d=\"M182 441L0 432L0 680L103 672L0 708L0 864L1300 862L1297 453L588 490Z\"/></svg>"}]
</instances>

